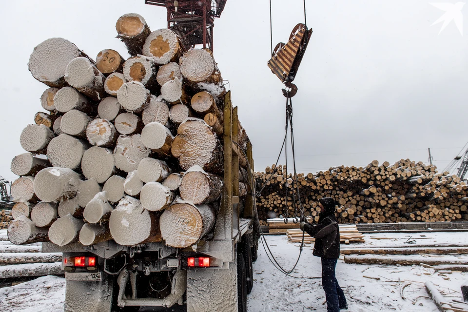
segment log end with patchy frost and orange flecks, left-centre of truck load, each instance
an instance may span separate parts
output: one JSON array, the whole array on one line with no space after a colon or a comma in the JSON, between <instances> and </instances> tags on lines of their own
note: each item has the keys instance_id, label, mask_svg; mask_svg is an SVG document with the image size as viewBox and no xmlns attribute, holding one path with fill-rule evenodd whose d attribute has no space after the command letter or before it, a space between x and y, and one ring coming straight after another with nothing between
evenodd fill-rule
<instances>
[{"instance_id":1,"label":"log end with patchy frost and orange flecks, left-centre of truck load","mask_svg":"<svg viewBox=\"0 0 468 312\"><path fill-rule=\"evenodd\" d=\"M86 128L86 138L91 145L113 147L117 137L116 127L106 119L96 118Z\"/></svg>"}]
</instances>

